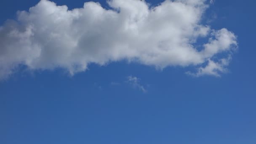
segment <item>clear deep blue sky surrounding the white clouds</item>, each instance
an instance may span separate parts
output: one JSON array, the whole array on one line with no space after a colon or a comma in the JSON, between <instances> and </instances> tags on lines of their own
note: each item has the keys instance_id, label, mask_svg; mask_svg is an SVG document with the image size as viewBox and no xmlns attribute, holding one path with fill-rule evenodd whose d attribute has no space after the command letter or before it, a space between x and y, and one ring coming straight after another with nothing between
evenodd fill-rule
<instances>
[{"instance_id":1,"label":"clear deep blue sky surrounding the white clouds","mask_svg":"<svg viewBox=\"0 0 256 144\"><path fill-rule=\"evenodd\" d=\"M54 2L72 9L85 0ZM0 25L36 3L1 0ZM212 28L238 36L239 50L221 78L125 61L91 64L74 77L21 68L0 82L0 144L256 144L255 5L216 0L205 14L205 21L216 14ZM149 85L147 93L125 83L129 75Z\"/></svg>"}]
</instances>

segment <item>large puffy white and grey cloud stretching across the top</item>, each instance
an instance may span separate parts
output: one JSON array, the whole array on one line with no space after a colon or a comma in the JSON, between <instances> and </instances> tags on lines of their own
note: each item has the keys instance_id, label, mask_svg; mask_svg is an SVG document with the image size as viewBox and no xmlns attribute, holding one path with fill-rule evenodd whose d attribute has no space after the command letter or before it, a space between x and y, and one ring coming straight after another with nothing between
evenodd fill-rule
<instances>
[{"instance_id":1,"label":"large puffy white and grey cloud stretching across the top","mask_svg":"<svg viewBox=\"0 0 256 144\"><path fill-rule=\"evenodd\" d=\"M29 11L19 11L16 20L0 27L0 78L20 66L63 68L74 75L91 63L120 60L158 69L194 66L199 67L195 75L220 75L223 71L215 70L220 68L209 67L227 67L217 63L237 48L234 33L202 24L206 0L166 0L155 7L145 0L107 2L111 9L87 2L68 10L41 0ZM203 49L195 46L198 38L209 40ZM202 67L205 63L209 65Z\"/></svg>"}]
</instances>

